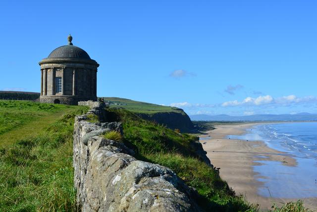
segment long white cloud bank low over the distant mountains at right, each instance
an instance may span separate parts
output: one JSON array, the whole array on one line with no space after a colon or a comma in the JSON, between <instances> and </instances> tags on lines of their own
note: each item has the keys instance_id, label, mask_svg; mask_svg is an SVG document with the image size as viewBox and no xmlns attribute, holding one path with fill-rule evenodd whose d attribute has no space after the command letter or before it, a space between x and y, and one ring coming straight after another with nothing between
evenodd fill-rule
<instances>
[{"instance_id":1,"label":"long white cloud bank low over the distant mountains at right","mask_svg":"<svg viewBox=\"0 0 317 212\"><path fill-rule=\"evenodd\" d=\"M305 96L298 98L295 95L282 96L273 98L270 95L259 96L257 98L247 97L243 101L233 100L223 102L222 107L233 107L233 106L261 106L261 105L280 105L289 106L292 104L305 104L305 103L317 103L317 97Z\"/></svg>"}]
</instances>

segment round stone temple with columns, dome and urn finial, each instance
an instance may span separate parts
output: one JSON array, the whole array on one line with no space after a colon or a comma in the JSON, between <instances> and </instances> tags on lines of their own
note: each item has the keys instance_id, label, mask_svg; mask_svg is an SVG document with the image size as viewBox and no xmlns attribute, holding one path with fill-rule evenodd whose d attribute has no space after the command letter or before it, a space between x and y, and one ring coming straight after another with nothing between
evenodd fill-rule
<instances>
[{"instance_id":1,"label":"round stone temple with columns, dome and urn finial","mask_svg":"<svg viewBox=\"0 0 317 212\"><path fill-rule=\"evenodd\" d=\"M97 68L87 52L72 44L53 50L41 66L40 102L77 105L78 101L97 101Z\"/></svg>"}]
</instances>

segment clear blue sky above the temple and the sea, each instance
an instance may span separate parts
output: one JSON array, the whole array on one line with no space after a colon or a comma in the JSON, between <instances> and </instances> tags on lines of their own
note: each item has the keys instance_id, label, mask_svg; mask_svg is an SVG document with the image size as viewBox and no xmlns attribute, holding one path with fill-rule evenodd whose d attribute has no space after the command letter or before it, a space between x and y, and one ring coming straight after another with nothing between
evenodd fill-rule
<instances>
[{"instance_id":1,"label":"clear blue sky above the temple and the sea","mask_svg":"<svg viewBox=\"0 0 317 212\"><path fill-rule=\"evenodd\" d=\"M316 0L0 3L0 90L40 91L38 62L73 44L98 96L188 114L317 113Z\"/></svg>"}]
</instances>

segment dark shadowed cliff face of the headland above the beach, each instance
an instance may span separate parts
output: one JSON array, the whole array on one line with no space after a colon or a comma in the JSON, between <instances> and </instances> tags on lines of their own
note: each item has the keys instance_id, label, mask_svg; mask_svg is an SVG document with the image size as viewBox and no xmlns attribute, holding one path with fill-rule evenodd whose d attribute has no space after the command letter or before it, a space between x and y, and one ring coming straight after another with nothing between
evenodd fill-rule
<instances>
[{"instance_id":1,"label":"dark shadowed cliff face of the headland above the beach","mask_svg":"<svg viewBox=\"0 0 317 212\"><path fill-rule=\"evenodd\" d=\"M159 112L154 114L138 113L142 119L154 121L158 124L163 124L166 127L174 130L179 129L182 133L190 133L194 131L194 124L189 116L182 110L177 112Z\"/></svg>"}]
</instances>

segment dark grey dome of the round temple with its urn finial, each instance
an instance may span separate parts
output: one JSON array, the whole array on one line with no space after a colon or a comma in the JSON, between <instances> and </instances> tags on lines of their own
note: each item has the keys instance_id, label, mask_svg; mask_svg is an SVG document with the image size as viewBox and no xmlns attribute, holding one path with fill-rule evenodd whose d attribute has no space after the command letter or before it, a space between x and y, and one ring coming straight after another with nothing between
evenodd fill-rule
<instances>
[{"instance_id":1,"label":"dark grey dome of the round temple with its urn finial","mask_svg":"<svg viewBox=\"0 0 317 212\"><path fill-rule=\"evenodd\" d=\"M68 45L60 46L51 52L48 58L78 58L78 59L85 59L85 60L91 60L87 52L85 50L73 46L72 40L73 37L69 35L67 37Z\"/></svg>"}]
</instances>

